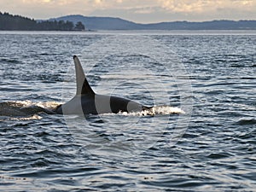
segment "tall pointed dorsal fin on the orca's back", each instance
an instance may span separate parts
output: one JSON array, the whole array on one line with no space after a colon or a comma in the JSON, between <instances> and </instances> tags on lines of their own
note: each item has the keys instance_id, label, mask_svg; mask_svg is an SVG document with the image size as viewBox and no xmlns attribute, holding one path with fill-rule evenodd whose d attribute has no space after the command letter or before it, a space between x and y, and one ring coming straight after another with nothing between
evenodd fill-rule
<instances>
[{"instance_id":1,"label":"tall pointed dorsal fin on the orca's back","mask_svg":"<svg viewBox=\"0 0 256 192\"><path fill-rule=\"evenodd\" d=\"M79 61L79 57L77 55L73 55L73 61L75 64L76 70L76 81L77 81L77 94L76 95L84 95L84 94L92 94L95 95L95 92L91 89L90 84L84 75L83 67Z\"/></svg>"}]
</instances>

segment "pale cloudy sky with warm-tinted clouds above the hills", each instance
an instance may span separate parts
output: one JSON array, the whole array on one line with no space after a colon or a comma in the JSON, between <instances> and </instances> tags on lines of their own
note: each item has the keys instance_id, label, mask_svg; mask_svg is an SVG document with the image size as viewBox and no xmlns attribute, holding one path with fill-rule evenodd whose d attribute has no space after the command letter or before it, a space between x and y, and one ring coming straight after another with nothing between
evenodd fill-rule
<instances>
[{"instance_id":1,"label":"pale cloudy sky with warm-tinted clouds above the hills","mask_svg":"<svg viewBox=\"0 0 256 192\"><path fill-rule=\"evenodd\" d=\"M33 19L111 16L137 23L256 20L256 0L0 0L0 11Z\"/></svg>"}]
</instances>

